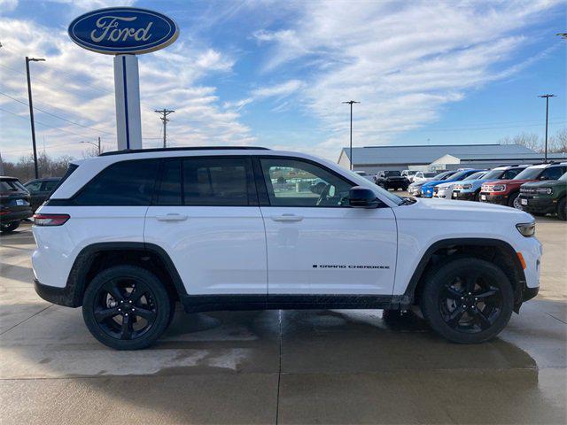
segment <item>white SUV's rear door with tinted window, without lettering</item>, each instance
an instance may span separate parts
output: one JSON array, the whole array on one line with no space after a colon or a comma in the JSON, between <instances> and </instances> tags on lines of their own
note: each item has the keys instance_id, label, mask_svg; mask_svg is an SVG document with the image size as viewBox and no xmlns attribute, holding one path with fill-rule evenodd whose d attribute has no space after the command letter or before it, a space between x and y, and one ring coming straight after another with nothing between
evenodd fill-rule
<instances>
[{"instance_id":1,"label":"white SUV's rear door with tinted window, without lettering","mask_svg":"<svg viewBox=\"0 0 567 425\"><path fill-rule=\"evenodd\" d=\"M144 242L167 251L190 295L266 295L266 237L251 159L165 159Z\"/></svg>"}]
</instances>

